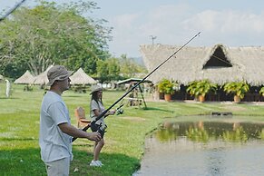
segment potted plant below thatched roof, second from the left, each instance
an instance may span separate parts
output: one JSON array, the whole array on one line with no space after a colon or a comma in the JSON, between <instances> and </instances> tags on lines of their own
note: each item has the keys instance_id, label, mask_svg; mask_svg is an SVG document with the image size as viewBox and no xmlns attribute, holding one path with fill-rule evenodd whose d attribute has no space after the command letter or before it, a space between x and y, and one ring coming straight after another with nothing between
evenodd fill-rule
<instances>
[{"instance_id":1,"label":"potted plant below thatched roof, second from the left","mask_svg":"<svg viewBox=\"0 0 264 176\"><path fill-rule=\"evenodd\" d=\"M216 83L210 83L209 80L200 80L189 83L186 92L194 96L196 100L199 99L199 102L202 103L205 101L205 95L207 93L216 92L216 90Z\"/></svg>"}]
</instances>

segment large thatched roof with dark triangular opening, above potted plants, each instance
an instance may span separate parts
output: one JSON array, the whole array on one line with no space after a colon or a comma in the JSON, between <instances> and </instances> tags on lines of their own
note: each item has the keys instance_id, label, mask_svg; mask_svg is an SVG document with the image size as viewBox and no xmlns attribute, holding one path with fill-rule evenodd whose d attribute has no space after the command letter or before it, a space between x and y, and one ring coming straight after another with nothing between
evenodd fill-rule
<instances>
[{"instance_id":1,"label":"large thatched roof with dark triangular opening, above potted plants","mask_svg":"<svg viewBox=\"0 0 264 176\"><path fill-rule=\"evenodd\" d=\"M141 45L143 61L149 72L164 62L181 46ZM209 79L212 83L245 80L251 85L264 84L264 47L185 46L148 78L158 83L163 78L182 84Z\"/></svg>"}]
</instances>

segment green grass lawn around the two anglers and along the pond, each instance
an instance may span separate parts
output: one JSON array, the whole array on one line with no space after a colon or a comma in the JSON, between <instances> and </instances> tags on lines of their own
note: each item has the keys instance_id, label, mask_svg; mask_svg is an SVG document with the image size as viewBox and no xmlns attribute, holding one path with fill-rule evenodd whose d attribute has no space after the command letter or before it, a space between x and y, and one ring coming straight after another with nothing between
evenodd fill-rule
<instances>
[{"instance_id":1,"label":"green grass lawn around the two anglers and along the pond","mask_svg":"<svg viewBox=\"0 0 264 176\"><path fill-rule=\"evenodd\" d=\"M46 174L38 146L39 112L44 91L34 87L33 92L24 92L23 88L23 85L13 85L13 94L6 99L5 83L0 83L0 175ZM112 105L123 93L103 92L105 107ZM88 115L89 93L67 91L63 97L73 125L76 124L73 113L77 106L83 106ZM233 112L236 116L232 121L264 121L264 106L256 104L161 101L147 102L147 105L147 110L124 106L122 115L106 118L108 128L101 152L102 168L89 166L93 159L93 142L84 139L73 142L70 175L132 175L140 167L146 135L164 121L199 121L201 118L210 121L198 114L217 111ZM215 118L215 121L219 120Z\"/></svg>"}]
</instances>

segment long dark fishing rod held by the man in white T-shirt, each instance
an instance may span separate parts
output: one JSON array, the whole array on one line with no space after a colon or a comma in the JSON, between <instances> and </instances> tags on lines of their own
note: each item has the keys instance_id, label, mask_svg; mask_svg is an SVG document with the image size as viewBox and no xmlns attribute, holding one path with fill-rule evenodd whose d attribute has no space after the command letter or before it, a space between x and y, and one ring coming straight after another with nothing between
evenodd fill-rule
<instances>
[{"instance_id":1,"label":"long dark fishing rod held by the man in white T-shirt","mask_svg":"<svg viewBox=\"0 0 264 176\"><path fill-rule=\"evenodd\" d=\"M150 75L152 75L152 73L154 73L154 72L155 72L156 70L158 70L163 64L165 64L167 61L169 61L173 55L175 55L175 54L177 54L178 52L180 52L181 49L182 49L183 47L185 47L187 44L191 43L191 41L192 41L194 38L196 38L199 34L200 34L200 32L199 32L198 34L195 34L193 37L191 37L191 39L190 39L187 43L183 44L183 45L182 45L177 51L175 51L173 54L171 54L171 56L169 56L165 61L163 61L163 62L162 62L161 64L159 64L155 69L153 69L151 73L148 73L148 74L147 74L147 75L146 75L146 76L145 76L140 82L138 82L138 83L136 83L134 86L132 86L132 88L131 88L127 93L124 93L124 94L122 95L122 97L120 97L115 103L112 103L112 105L111 105L109 108L107 108L107 109L106 109L105 111L103 111L98 117L96 117L95 120L94 120L93 122L91 122L91 125L95 124L95 122L97 122L99 119L101 119L101 118L105 115L106 112L109 112L109 111L112 109L112 107L113 107L115 104L117 104L117 103L119 103L120 101L122 101L122 99L123 99L128 93L132 92L132 90L134 90L139 84L141 84L142 82L144 82L144 81L145 81ZM83 128L83 132L86 132L86 131L88 130L89 127L90 127L90 124L89 124L89 126L88 126L88 125L85 126L85 127ZM100 129L99 129L99 130L100 130ZM77 139L77 138L73 138L73 141L72 141L72 142L74 142L76 139Z\"/></svg>"}]
</instances>

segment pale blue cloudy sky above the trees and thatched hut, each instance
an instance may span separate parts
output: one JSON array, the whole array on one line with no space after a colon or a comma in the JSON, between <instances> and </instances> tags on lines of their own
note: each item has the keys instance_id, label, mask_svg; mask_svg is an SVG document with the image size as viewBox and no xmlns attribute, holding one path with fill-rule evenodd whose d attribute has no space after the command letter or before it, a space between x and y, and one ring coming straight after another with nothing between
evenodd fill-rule
<instances>
[{"instance_id":1,"label":"pale blue cloudy sky above the trees and thatched hut","mask_svg":"<svg viewBox=\"0 0 264 176\"><path fill-rule=\"evenodd\" d=\"M0 0L0 12L20 0ZM51 1L51 0L48 0ZM69 3L78 0L57 0ZM109 51L114 56L141 57L141 44L190 46L264 45L263 0L94 0L95 19L111 26ZM24 5L35 5L26 0ZM155 39L152 39L155 38Z\"/></svg>"}]
</instances>

